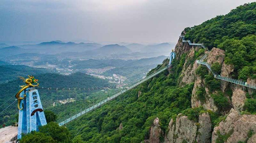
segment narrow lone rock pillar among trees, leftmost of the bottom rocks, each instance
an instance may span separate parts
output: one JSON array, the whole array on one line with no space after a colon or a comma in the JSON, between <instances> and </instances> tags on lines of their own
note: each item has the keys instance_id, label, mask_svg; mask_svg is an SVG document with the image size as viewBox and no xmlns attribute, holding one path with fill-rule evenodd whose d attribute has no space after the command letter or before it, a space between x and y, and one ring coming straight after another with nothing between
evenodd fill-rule
<instances>
[{"instance_id":1,"label":"narrow lone rock pillar among trees, leftmost of the bottom rocks","mask_svg":"<svg viewBox=\"0 0 256 143\"><path fill-rule=\"evenodd\" d=\"M162 130L159 125L159 118L156 118L153 122L153 125L150 128L149 142L150 143L159 143L161 133L162 133Z\"/></svg>"}]
</instances>

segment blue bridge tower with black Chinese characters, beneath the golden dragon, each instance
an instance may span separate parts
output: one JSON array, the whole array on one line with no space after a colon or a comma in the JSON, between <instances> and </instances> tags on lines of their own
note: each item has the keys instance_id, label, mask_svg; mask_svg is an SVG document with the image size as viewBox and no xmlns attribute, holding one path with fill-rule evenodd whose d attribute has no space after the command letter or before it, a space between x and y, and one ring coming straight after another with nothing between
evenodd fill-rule
<instances>
[{"instance_id":1,"label":"blue bridge tower with black Chinese characters, beneath the golden dragon","mask_svg":"<svg viewBox=\"0 0 256 143\"><path fill-rule=\"evenodd\" d=\"M22 134L38 131L39 126L47 124L38 90L29 87L20 93L20 97L24 97L24 93L26 97L20 102L23 109L19 110L18 139Z\"/></svg>"}]
</instances>

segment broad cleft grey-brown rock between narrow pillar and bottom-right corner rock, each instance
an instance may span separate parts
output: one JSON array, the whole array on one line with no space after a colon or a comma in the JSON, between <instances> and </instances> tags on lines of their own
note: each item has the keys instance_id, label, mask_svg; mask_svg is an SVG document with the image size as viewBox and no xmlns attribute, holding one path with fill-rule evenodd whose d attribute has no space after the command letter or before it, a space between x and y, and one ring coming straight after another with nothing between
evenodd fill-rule
<instances>
[{"instance_id":1,"label":"broad cleft grey-brown rock between narrow pillar and bottom-right corner rock","mask_svg":"<svg viewBox=\"0 0 256 143\"><path fill-rule=\"evenodd\" d=\"M199 116L199 129L194 121L188 119L187 116L181 116L179 114L176 119L176 123L173 123L173 119L170 120L168 126L168 133L165 135L164 142L166 143L180 143L187 141L192 143L210 142L211 136L211 120L208 113L203 113ZM197 135L198 129L198 135Z\"/></svg>"}]
</instances>

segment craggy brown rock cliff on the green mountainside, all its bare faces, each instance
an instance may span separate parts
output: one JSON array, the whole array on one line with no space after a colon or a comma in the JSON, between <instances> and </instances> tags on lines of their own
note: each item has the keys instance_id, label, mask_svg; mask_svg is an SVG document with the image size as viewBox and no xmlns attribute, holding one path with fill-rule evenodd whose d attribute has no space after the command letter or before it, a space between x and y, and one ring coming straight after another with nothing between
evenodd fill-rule
<instances>
[{"instance_id":1,"label":"craggy brown rock cliff on the green mountainside, all its bare faces","mask_svg":"<svg viewBox=\"0 0 256 143\"><path fill-rule=\"evenodd\" d=\"M185 34L183 31L182 34ZM199 68L196 60L204 54L207 63L220 65L219 73L223 77L230 77L234 72L234 65L225 63L225 51L212 48L210 51L202 47L190 46L187 42L182 42L180 38L175 46L176 60L181 60L186 56L181 73L178 75L178 85L184 87L186 84L194 83L191 95L191 107L203 108L197 121L190 120L187 116L179 114L176 119L171 119L168 129L164 133L163 142L166 143L219 143L219 142L256 142L256 116L246 115L243 106L247 99L247 93L253 94L253 90L232 84L226 81L213 79L211 82L219 83L218 88L209 87L209 79L196 74ZM211 71L207 69L208 75ZM212 76L213 77L213 76ZM247 83L256 83L255 79L247 79ZM204 92L199 92L202 90ZM213 96L215 95L215 96ZM226 99L226 105L220 104L217 99ZM216 100L216 101L215 101ZM214 116L217 115L218 120ZM243 115L242 115L243 113ZM157 120L157 119L155 119ZM145 142L161 142L161 128L155 124L150 129L150 139ZM214 125L212 125L214 123Z\"/></svg>"}]
</instances>

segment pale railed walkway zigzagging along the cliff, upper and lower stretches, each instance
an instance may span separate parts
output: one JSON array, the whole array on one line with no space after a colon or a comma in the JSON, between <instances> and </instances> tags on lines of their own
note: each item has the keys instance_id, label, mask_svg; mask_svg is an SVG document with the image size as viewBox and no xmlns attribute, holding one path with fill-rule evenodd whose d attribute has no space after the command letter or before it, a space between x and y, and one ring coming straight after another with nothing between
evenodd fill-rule
<instances>
[{"instance_id":1,"label":"pale railed walkway zigzagging along the cliff, upper and lower stretches","mask_svg":"<svg viewBox=\"0 0 256 143\"><path fill-rule=\"evenodd\" d=\"M202 46L203 48L205 48L202 43L201 44L191 43L190 40L185 40L184 36L180 36L180 38L182 38L182 42L188 42L189 45L198 45L198 46ZM196 60L196 62L198 64L201 64L201 65L206 65L207 68L212 72L211 65L209 63L203 61L206 57L207 57L207 54L202 56L202 58L200 60ZM235 83L235 84L239 84L239 85L242 85L244 87L249 87L249 88L252 88L252 89L256 89L256 85L248 84L247 82L240 81L240 80L233 79L233 78L229 78L229 77L222 77L220 75L215 74L214 72L212 72L212 74L214 75L214 78L217 78L217 79L220 79L220 80L224 80L224 81L228 81L228 82L232 82L232 83Z\"/></svg>"}]
</instances>

